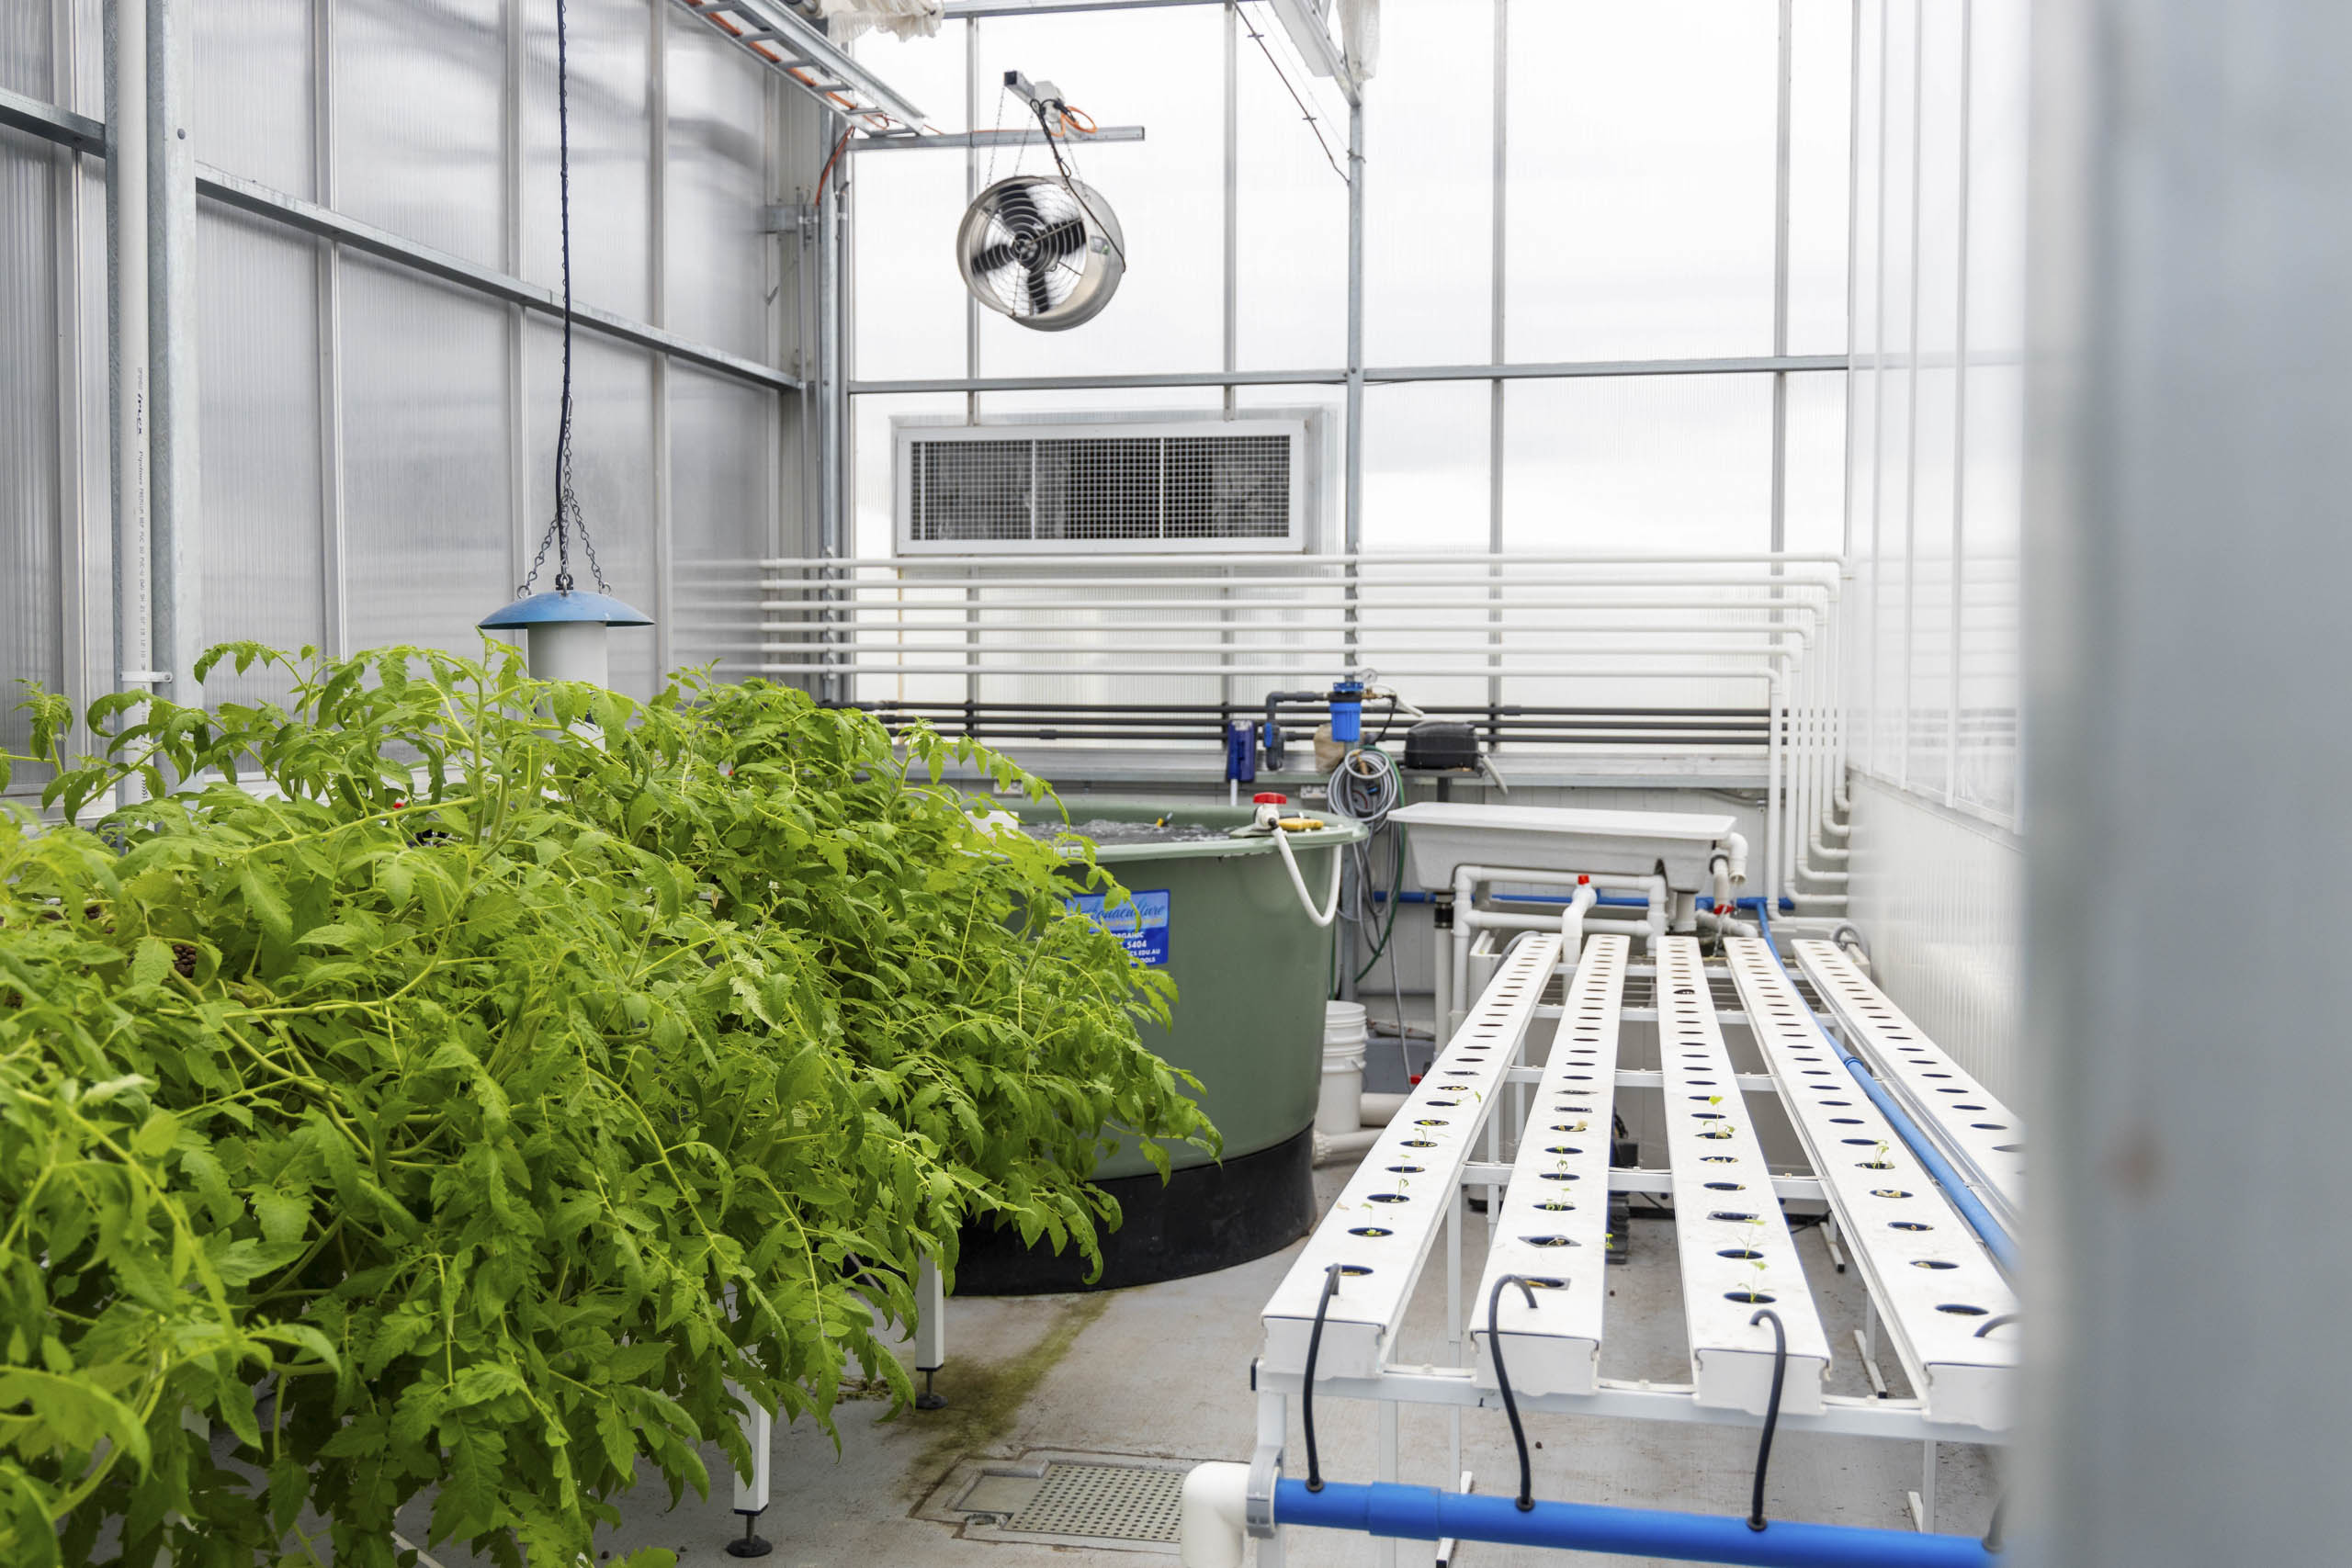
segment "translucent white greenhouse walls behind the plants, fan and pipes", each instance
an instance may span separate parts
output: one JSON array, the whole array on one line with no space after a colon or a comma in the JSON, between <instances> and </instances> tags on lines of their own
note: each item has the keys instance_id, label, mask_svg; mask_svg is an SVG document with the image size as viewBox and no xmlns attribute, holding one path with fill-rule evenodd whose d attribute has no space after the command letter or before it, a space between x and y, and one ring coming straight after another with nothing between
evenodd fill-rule
<instances>
[{"instance_id":1,"label":"translucent white greenhouse walls behind the plants, fan and pipes","mask_svg":"<svg viewBox=\"0 0 2352 1568\"><path fill-rule=\"evenodd\" d=\"M553 28L536 7L235 0L188 14L207 172L560 284ZM743 614L750 562L891 557L901 423L1303 411L1324 421L1317 524L1334 545L1842 555L1851 912L1922 1020L2013 1084L2018 943L1999 910L2018 858L2023 0L1390 5L1383 49L1416 66L1364 99L1357 360L1348 110L1251 16L990 14L863 45L931 129L1007 125L1009 66L1073 94L1084 82L1087 101L1143 125L1143 141L1084 153L1084 172L1120 190L1143 266L1089 331L1021 331L964 294L936 214L1042 162L1035 148L844 160L851 470L828 524L826 390L804 390L818 374L816 237L774 214L807 202L830 132L807 94L675 5L574 7L579 296L687 348L581 331L581 498L607 520L600 567L656 623L616 639L616 684L649 693L680 665L774 663L774 614ZM9 7L0 47L0 87L103 115L96 0ZM1305 125L1294 80L1308 82ZM111 658L103 160L14 129L0 129L0 428L31 480L0 501L16 557L0 675L87 701L108 689ZM1442 244L1423 242L1432 230ZM202 639L475 646L482 607L532 571L550 505L534 456L553 437L550 313L209 195L191 270ZM1341 461L1350 374L1359 496ZM858 677L842 696L981 684ZM1200 691L985 684L1028 703ZM1232 701L1237 682L1221 686ZM207 696L247 691L261 686L226 679ZM1712 682L1552 691L1752 701ZM0 726L21 738L19 717ZM1070 790L1202 788L1197 755L1138 776L1136 759L1070 745L1014 750ZM1762 837L1755 769L1524 759L1517 773L1519 804L1729 790ZM38 790L40 771L12 788ZM1402 914L1409 938L1418 922ZM1399 947L1399 983L1423 990L1423 943Z\"/></svg>"}]
</instances>

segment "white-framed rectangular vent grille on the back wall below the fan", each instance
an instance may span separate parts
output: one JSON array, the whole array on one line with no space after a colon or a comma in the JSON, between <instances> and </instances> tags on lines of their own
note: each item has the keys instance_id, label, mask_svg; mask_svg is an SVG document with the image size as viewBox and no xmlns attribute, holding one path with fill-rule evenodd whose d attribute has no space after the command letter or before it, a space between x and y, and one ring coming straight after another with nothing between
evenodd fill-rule
<instances>
[{"instance_id":1,"label":"white-framed rectangular vent grille on the back wall below the fan","mask_svg":"<svg viewBox=\"0 0 2352 1568\"><path fill-rule=\"evenodd\" d=\"M898 548L1298 550L1305 423L903 425Z\"/></svg>"}]
</instances>

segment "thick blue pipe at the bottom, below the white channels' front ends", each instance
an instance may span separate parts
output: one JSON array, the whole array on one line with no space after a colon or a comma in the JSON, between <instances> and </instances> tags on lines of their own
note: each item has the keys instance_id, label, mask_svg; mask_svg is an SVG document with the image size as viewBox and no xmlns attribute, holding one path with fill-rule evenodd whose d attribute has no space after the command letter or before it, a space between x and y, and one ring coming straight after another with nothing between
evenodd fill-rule
<instances>
[{"instance_id":1,"label":"thick blue pipe at the bottom, below the white channels' front ends","mask_svg":"<svg viewBox=\"0 0 2352 1568\"><path fill-rule=\"evenodd\" d=\"M1750 1563L1755 1568L1990 1568L1999 1559L1971 1535L1919 1535L1860 1526L1771 1521L1750 1530L1745 1519L1613 1509L1592 1502L1538 1502L1442 1493L1435 1486L1374 1481L1275 1483L1275 1523L1322 1530L1364 1530L1399 1540L1486 1540L1505 1547L1665 1556L1684 1563Z\"/></svg>"}]
</instances>

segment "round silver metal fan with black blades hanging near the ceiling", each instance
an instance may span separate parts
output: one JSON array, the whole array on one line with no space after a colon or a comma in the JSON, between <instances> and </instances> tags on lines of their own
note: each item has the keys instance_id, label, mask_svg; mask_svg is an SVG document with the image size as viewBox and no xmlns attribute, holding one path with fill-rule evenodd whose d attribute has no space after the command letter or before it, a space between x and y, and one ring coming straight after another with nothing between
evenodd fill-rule
<instances>
[{"instance_id":1,"label":"round silver metal fan with black blades hanging near the ceiling","mask_svg":"<svg viewBox=\"0 0 2352 1568\"><path fill-rule=\"evenodd\" d=\"M1127 237L1091 186L1014 174L971 200L955 233L955 266L990 310L1037 331L1068 331L1117 294Z\"/></svg>"}]
</instances>

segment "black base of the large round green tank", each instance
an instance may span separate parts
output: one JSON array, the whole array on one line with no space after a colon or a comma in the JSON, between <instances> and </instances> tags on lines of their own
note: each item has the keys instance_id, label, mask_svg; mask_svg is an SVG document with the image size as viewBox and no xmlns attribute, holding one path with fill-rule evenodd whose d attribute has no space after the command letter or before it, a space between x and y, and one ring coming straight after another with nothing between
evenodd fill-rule
<instances>
[{"instance_id":1,"label":"black base of the large round green tank","mask_svg":"<svg viewBox=\"0 0 2352 1568\"><path fill-rule=\"evenodd\" d=\"M1122 1291L1279 1253L1315 1229L1315 1128L1221 1166L1188 1166L1167 1185L1150 1171L1098 1185L1120 1199L1124 1215L1117 1229L1098 1232L1101 1279L1087 1279L1087 1258L1075 1246L1061 1253L1044 1239L1021 1246L1021 1232L983 1220L964 1227L955 1293Z\"/></svg>"}]
</instances>

